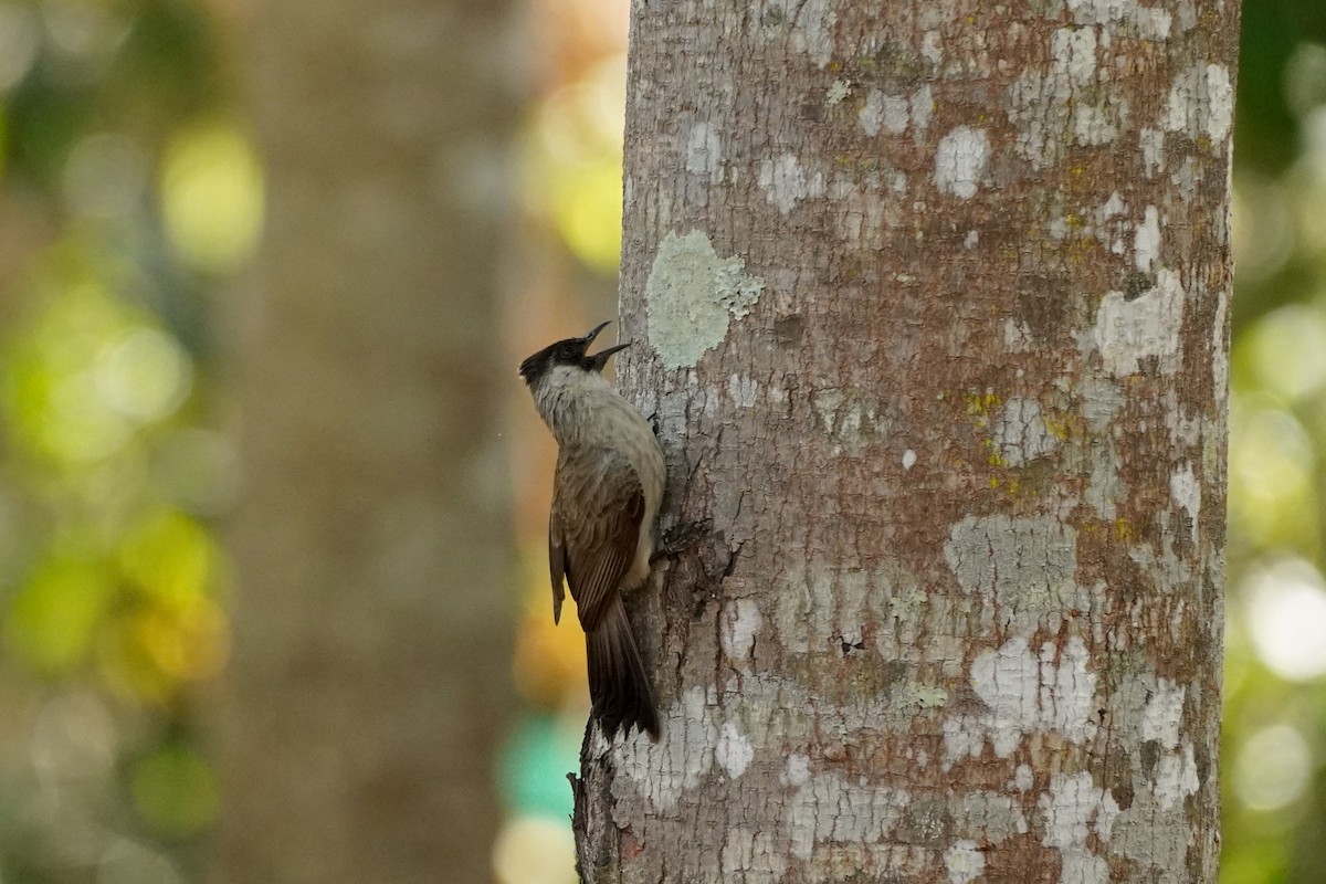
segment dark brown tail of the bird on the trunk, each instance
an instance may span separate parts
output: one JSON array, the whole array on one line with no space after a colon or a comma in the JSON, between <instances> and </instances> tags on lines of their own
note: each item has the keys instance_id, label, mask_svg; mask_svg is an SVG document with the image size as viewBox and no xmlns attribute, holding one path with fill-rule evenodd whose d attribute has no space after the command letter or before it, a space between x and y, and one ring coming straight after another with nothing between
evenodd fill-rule
<instances>
[{"instance_id":1,"label":"dark brown tail of the bird on the trunk","mask_svg":"<svg viewBox=\"0 0 1326 884\"><path fill-rule=\"evenodd\" d=\"M590 714L598 720L603 736L611 740L618 728L625 726L630 733L634 725L658 740L654 688L640 660L640 649L635 645L631 623L626 619L626 607L615 592L598 626L585 634L585 649L589 657L589 697L594 704Z\"/></svg>"}]
</instances>

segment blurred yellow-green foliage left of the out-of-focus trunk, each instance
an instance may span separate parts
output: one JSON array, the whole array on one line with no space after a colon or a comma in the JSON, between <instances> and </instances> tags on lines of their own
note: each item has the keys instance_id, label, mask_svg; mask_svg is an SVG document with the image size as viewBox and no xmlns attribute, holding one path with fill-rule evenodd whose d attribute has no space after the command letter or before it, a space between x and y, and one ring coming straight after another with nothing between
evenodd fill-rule
<instances>
[{"instance_id":1,"label":"blurred yellow-green foliage left of the out-of-focus trunk","mask_svg":"<svg viewBox=\"0 0 1326 884\"><path fill-rule=\"evenodd\" d=\"M0 879L180 881L227 649L202 317L261 179L203 4L4 4L0 45Z\"/></svg>"}]
</instances>

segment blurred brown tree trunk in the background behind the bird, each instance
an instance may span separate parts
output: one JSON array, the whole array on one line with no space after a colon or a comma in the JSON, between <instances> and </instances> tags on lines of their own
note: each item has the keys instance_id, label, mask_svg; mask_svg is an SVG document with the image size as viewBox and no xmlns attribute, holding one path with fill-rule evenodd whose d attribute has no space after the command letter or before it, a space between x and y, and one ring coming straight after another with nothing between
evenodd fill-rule
<instances>
[{"instance_id":1,"label":"blurred brown tree trunk in the background behind the bird","mask_svg":"<svg viewBox=\"0 0 1326 884\"><path fill-rule=\"evenodd\" d=\"M240 315L217 880L488 880L512 25L491 0L267 3L253 23L269 190Z\"/></svg>"}]
</instances>

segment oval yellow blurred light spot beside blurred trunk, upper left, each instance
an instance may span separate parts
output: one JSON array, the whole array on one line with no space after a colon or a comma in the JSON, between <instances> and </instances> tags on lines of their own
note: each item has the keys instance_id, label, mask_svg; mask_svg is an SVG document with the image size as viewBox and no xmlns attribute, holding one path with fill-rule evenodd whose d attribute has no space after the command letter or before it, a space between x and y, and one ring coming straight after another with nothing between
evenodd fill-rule
<instances>
[{"instance_id":1,"label":"oval yellow blurred light spot beside blurred trunk, upper left","mask_svg":"<svg viewBox=\"0 0 1326 884\"><path fill-rule=\"evenodd\" d=\"M166 236L204 273L233 273L253 257L263 229L263 174L249 140L220 121L176 134L160 167Z\"/></svg>"}]
</instances>

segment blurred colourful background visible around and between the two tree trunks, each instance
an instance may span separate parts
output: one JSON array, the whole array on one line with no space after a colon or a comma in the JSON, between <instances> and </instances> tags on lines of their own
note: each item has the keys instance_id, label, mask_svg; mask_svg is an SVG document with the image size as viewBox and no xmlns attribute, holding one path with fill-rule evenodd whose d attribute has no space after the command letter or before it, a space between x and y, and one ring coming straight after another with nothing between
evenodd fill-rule
<instances>
[{"instance_id":1,"label":"blurred colourful background visible around and between the two tree trunks","mask_svg":"<svg viewBox=\"0 0 1326 884\"><path fill-rule=\"evenodd\" d=\"M273 0L274 1L274 0ZM263 229L256 0L0 0L0 881L207 876L200 726L229 652L217 315ZM1225 884L1326 867L1326 7L1245 0L1235 162ZM373 4L365 16L374 15ZM614 314L626 0L529 0L512 353ZM529 268L534 268L530 273ZM537 285L530 280L537 278ZM587 701L548 616L550 444L518 384L521 708L504 884L573 881Z\"/></svg>"}]
</instances>

